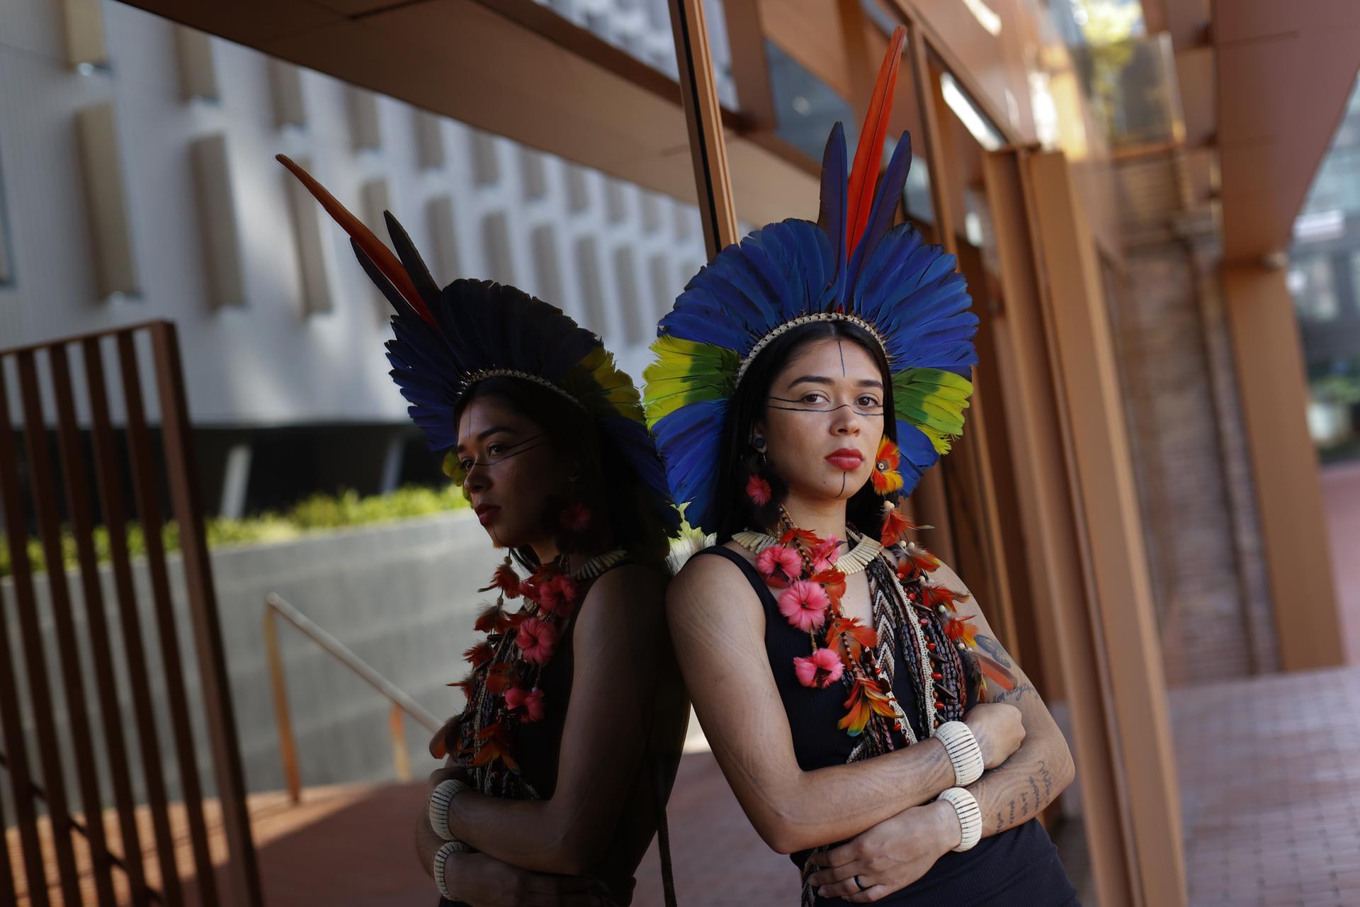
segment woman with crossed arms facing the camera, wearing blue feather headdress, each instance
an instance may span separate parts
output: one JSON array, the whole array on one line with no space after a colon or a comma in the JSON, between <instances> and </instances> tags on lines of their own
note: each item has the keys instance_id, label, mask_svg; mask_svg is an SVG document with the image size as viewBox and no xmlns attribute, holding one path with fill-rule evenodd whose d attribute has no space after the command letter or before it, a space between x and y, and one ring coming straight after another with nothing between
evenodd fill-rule
<instances>
[{"instance_id":1,"label":"woman with crossed arms facing the camera, wearing blue feather headdress","mask_svg":"<svg viewBox=\"0 0 1360 907\"><path fill-rule=\"evenodd\" d=\"M660 326L647 417L691 525L668 592L676 653L756 831L804 904L1073 904L1035 816L1072 759L959 578L898 503L963 427L976 317L952 256L892 226L903 135L874 193L904 33L819 222L719 253Z\"/></svg>"}]
</instances>

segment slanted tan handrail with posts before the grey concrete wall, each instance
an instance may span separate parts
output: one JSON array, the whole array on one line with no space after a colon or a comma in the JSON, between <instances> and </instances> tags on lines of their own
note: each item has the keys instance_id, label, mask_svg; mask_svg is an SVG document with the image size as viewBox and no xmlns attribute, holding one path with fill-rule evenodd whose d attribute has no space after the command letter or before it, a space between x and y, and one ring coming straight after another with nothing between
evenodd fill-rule
<instances>
[{"instance_id":1,"label":"slanted tan handrail with posts before the grey concrete wall","mask_svg":"<svg viewBox=\"0 0 1360 907\"><path fill-rule=\"evenodd\" d=\"M420 707L396 684L370 668L359 655L350 651L344 643L313 623L306 615L284 601L279 594L264 597L264 647L269 661L269 683L273 687L273 714L279 723L279 756L283 760L283 778L288 787L288 798L298 802L302 798L302 775L298 771L298 744L292 736L292 713L288 708L288 688L283 676L283 657L279 653L279 630L275 616L279 615L321 646L329 655L345 668L369 681L369 685L392 700L388 730L392 734L392 761L397 781L411 781L411 757L407 753L405 726L401 713L420 722L430 733L439 730L439 721Z\"/></svg>"}]
</instances>

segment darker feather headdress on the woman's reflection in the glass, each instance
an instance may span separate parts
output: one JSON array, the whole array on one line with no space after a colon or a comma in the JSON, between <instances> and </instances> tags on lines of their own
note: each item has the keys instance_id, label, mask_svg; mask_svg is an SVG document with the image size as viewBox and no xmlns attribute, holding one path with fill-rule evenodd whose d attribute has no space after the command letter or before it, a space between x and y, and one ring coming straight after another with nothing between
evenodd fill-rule
<instances>
[{"instance_id":1,"label":"darker feather headdress on the woman's reflection in the glass","mask_svg":"<svg viewBox=\"0 0 1360 907\"><path fill-rule=\"evenodd\" d=\"M601 443L613 445L650 491L656 518L673 536L680 517L670 503L661 461L647 432L638 390L590 330L555 306L491 280L454 280L442 291L407 231L384 212L393 253L296 163L283 163L350 234L364 272L392 303L388 341L392 379L431 450L458 443L458 403L479 381L510 375L562 394L596 420ZM447 458L446 458L446 470Z\"/></svg>"}]
</instances>

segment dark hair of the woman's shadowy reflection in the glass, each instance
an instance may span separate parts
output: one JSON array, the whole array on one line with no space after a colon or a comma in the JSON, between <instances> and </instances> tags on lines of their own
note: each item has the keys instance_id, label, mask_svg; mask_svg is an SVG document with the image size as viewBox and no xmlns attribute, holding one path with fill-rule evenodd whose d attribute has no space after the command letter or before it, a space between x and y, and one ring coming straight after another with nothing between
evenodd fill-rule
<instances>
[{"instance_id":1,"label":"dark hair of the woman's shadowy reflection in the glass","mask_svg":"<svg viewBox=\"0 0 1360 907\"><path fill-rule=\"evenodd\" d=\"M473 385L458 401L454 419L461 420L468 405L479 397L495 397L520 416L534 422L547 435L555 457L579 464L577 491L581 503L596 514L592 521L592 541L604 549L623 548L642 563L664 566L670 543L654 517L656 502L651 492L624 456L607 438L601 438L594 419L563 400L558 392L511 375L496 375ZM571 502L544 500L541 519L545 529L556 528L558 515L567 503ZM601 515L605 519L600 519ZM511 555L528 570L539 566L532 548L515 548Z\"/></svg>"}]
</instances>

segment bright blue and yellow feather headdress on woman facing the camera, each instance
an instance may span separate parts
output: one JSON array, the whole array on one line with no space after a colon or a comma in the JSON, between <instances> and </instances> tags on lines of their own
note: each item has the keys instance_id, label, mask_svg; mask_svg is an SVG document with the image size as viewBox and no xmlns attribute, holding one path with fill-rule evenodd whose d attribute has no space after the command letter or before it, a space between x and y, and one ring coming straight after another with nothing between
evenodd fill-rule
<instances>
[{"instance_id":1,"label":"bright blue and yellow feather headdress on woman facing the camera","mask_svg":"<svg viewBox=\"0 0 1360 907\"><path fill-rule=\"evenodd\" d=\"M910 223L892 224L911 166L902 135L877 181L906 30L892 35L854 165L845 131L831 129L821 160L817 223L783 220L718 253L661 320L657 359L643 373L647 424L685 519L717 530L714 500L728 405L771 340L815 321L868 330L892 370L903 495L963 431L976 364L978 318L955 257Z\"/></svg>"}]
</instances>

